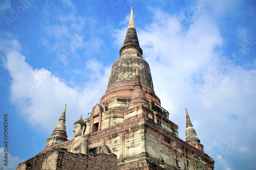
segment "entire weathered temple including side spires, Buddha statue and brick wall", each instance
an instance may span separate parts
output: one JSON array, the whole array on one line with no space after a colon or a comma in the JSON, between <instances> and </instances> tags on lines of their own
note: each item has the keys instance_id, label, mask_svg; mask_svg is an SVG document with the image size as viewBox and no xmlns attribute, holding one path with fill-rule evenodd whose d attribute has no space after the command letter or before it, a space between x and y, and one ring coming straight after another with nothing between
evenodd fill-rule
<instances>
[{"instance_id":1,"label":"entire weathered temple including side spires, Buddha statue and brick wall","mask_svg":"<svg viewBox=\"0 0 256 170\"><path fill-rule=\"evenodd\" d=\"M133 8L119 54L100 102L90 117L74 123L75 138L67 139L65 105L46 147L17 169L214 169L187 109L184 141L161 106L142 57Z\"/></svg>"}]
</instances>

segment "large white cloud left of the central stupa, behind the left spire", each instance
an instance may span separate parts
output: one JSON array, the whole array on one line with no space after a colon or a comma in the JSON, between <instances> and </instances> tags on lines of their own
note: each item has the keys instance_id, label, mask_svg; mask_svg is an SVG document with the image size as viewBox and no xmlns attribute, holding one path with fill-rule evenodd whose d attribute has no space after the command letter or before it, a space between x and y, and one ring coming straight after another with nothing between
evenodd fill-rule
<instances>
[{"instance_id":1,"label":"large white cloud left of the central stupa, behind the left spire","mask_svg":"<svg viewBox=\"0 0 256 170\"><path fill-rule=\"evenodd\" d=\"M57 124L57 120L65 104L67 104L67 129L72 130L72 124L83 114L98 103L104 94L105 82L108 82L109 67L103 67L96 60L88 63L94 79L83 83L83 86L71 88L58 77L53 76L45 68L33 69L25 61L20 52L22 48L17 40L2 39L1 51L5 54L5 68L12 77L11 101L19 107L21 117L26 117L28 124L37 127L37 130L47 130L49 134ZM52 69L57 64L52 65ZM49 125L49 126L45 126ZM72 131L68 131L72 138Z\"/></svg>"}]
</instances>

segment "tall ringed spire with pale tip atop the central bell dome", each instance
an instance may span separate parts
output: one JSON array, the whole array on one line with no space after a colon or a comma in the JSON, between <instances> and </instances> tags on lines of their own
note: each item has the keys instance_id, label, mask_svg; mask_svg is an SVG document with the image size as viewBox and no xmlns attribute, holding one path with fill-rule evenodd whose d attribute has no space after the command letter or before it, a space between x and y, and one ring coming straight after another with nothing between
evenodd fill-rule
<instances>
[{"instance_id":1,"label":"tall ringed spire with pale tip atop the central bell dome","mask_svg":"<svg viewBox=\"0 0 256 170\"><path fill-rule=\"evenodd\" d=\"M133 16L133 8L131 8L131 14L130 14L130 20L128 29L126 32L126 36L123 42L123 46L120 49L120 57L125 52L125 50L132 50L135 52L136 56L139 56L142 58L142 50L139 45L139 40L137 37L137 32L135 28L135 22L134 22L134 16Z\"/></svg>"}]
</instances>

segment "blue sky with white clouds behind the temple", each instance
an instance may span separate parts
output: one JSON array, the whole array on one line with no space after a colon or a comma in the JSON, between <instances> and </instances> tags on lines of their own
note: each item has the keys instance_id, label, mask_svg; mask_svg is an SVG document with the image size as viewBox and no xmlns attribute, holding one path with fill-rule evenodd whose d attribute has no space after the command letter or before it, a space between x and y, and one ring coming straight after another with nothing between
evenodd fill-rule
<instances>
[{"instance_id":1,"label":"blue sky with white clouds behind the temple","mask_svg":"<svg viewBox=\"0 0 256 170\"><path fill-rule=\"evenodd\" d=\"M215 169L255 168L255 1L1 0L0 169L40 152L65 104L73 138L73 123L105 93L132 5L155 93L179 137L187 108Z\"/></svg>"}]
</instances>

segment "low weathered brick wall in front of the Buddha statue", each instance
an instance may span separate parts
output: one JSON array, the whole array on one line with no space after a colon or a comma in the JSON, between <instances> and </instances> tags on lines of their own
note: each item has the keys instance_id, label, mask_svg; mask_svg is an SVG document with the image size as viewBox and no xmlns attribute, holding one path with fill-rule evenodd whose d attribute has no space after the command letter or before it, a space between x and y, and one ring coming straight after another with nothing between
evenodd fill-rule
<instances>
[{"instance_id":1,"label":"low weathered brick wall in front of the Buddha statue","mask_svg":"<svg viewBox=\"0 0 256 170\"><path fill-rule=\"evenodd\" d=\"M53 149L45 154L18 164L18 170L38 169L117 169L117 157L115 154L74 154L63 149Z\"/></svg>"}]
</instances>

